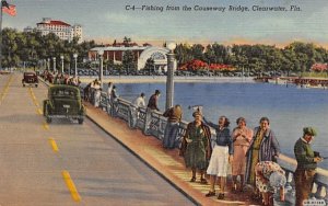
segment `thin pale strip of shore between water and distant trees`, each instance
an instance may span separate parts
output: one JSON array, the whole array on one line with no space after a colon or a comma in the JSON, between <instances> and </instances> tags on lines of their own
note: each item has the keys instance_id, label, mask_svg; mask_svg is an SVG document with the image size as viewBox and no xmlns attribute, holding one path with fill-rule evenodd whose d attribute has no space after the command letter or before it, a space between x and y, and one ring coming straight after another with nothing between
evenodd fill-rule
<instances>
[{"instance_id":1,"label":"thin pale strip of shore between water and distant trees","mask_svg":"<svg viewBox=\"0 0 328 206\"><path fill-rule=\"evenodd\" d=\"M80 77L82 83L89 83L98 77ZM104 83L165 83L166 76L106 76ZM174 77L175 82L207 82L207 83L222 83L222 82L247 82L253 83L254 78L242 77Z\"/></svg>"}]
</instances>

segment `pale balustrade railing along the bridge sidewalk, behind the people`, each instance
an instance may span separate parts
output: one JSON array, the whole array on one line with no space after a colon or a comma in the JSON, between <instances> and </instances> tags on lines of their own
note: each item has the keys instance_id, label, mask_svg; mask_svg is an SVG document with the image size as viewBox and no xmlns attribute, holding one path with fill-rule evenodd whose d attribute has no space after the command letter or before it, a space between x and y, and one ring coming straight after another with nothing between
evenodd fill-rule
<instances>
[{"instance_id":1,"label":"pale balustrade railing along the bridge sidewalk, behind the people","mask_svg":"<svg viewBox=\"0 0 328 206\"><path fill-rule=\"evenodd\" d=\"M108 102L107 94L105 92L102 92L101 94L101 107L104 111L107 111L108 115L112 115L114 117L119 117L127 123L130 121L130 107L131 102L118 98L115 102ZM115 110L115 111L114 111ZM137 119L136 127L141 129L142 131L145 131L145 118L147 118L147 111L145 108L138 108L139 115ZM150 126L148 129L148 135L152 135L156 137L157 139L162 140L164 137L164 130L166 126L166 117L162 115L160 112L151 112L151 119L150 119ZM129 124L130 125L130 124ZM185 130L187 128L187 122L181 122L179 124L179 133L177 141L179 142ZM215 134L212 133L212 139L215 139ZM178 145L178 144L177 144ZM296 160L293 158L289 158L284 154L280 154L278 159L278 163L284 169L286 174L286 202L291 205L294 205L295 202L295 184L294 184L294 171L296 170ZM326 203L328 203L328 171L318 168L317 174L315 176L315 182L313 185L312 198L315 199L324 199Z\"/></svg>"}]
</instances>

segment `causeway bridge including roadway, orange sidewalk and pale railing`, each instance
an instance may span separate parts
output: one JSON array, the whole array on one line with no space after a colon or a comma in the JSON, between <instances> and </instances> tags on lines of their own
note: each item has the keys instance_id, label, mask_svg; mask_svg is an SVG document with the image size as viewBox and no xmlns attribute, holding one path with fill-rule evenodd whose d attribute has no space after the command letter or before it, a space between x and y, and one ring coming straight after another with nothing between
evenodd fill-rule
<instances>
[{"instance_id":1,"label":"causeway bridge including roadway, orange sidewalk and pale railing","mask_svg":"<svg viewBox=\"0 0 328 206\"><path fill-rule=\"evenodd\" d=\"M145 111L137 129L128 127L130 102L118 99L108 115L106 94L101 108L85 102L83 125L69 119L45 122L47 87L23 88L21 73L0 76L0 205L257 205L246 190L226 199L204 197L209 185L190 183L177 150L162 148L166 118L152 114L144 136ZM109 113L110 114L110 113ZM179 135L186 129L180 124ZM293 205L295 160L281 156L286 171L286 202ZM319 169L314 198L328 199L327 171ZM278 198L276 198L278 199Z\"/></svg>"}]
</instances>

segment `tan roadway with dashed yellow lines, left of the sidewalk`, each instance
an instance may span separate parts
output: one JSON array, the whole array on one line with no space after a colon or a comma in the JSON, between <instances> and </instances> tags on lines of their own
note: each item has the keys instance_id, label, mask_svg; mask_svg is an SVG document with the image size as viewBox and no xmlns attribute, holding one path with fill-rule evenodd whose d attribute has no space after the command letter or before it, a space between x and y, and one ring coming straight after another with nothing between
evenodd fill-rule
<instances>
[{"instance_id":1,"label":"tan roadway with dashed yellow lines, left of the sidewalk","mask_svg":"<svg viewBox=\"0 0 328 206\"><path fill-rule=\"evenodd\" d=\"M91 121L46 124L21 79L0 76L0 206L194 205Z\"/></svg>"}]
</instances>

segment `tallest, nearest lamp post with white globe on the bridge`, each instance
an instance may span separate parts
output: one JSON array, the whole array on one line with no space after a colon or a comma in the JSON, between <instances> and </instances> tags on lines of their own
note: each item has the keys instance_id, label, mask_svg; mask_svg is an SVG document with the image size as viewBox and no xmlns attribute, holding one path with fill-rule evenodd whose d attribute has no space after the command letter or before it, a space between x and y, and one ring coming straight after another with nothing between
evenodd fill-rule
<instances>
[{"instance_id":1,"label":"tallest, nearest lamp post with white globe on the bridge","mask_svg":"<svg viewBox=\"0 0 328 206\"><path fill-rule=\"evenodd\" d=\"M166 54L167 56L167 76L166 76L166 104L165 108L169 108L173 106L173 96L174 96L174 67L175 67L175 54L173 50L176 47L174 42L167 42L166 47L169 52Z\"/></svg>"}]
</instances>

